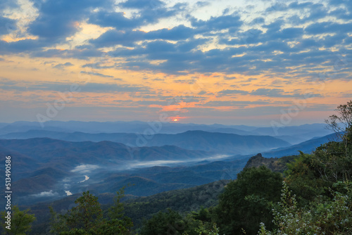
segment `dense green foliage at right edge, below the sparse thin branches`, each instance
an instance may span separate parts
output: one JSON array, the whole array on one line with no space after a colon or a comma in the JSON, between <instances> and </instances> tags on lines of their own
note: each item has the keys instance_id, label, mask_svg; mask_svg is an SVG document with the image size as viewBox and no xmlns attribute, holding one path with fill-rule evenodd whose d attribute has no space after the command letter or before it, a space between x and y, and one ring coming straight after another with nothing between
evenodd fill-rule
<instances>
[{"instance_id":1,"label":"dense green foliage at right edge, below the sparse thin branches","mask_svg":"<svg viewBox=\"0 0 352 235\"><path fill-rule=\"evenodd\" d=\"M301 153L288 167L287 183L298 202L307 205L317 196L332 198L329 189L334 183L351 180L352 158L344 154L343 143L333 141L322 144L312 154Z\"/></svg>"}]
</instances>

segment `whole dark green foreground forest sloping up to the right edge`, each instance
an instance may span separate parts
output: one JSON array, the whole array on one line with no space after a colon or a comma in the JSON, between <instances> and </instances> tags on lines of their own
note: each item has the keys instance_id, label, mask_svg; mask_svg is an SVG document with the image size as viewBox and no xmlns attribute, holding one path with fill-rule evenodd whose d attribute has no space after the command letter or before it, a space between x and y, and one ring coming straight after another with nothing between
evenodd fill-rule
<instances>
[{"instance_id":1,"label":"whole dark green foreground forest sloping up to the right edge","mask_svg":"<svg viewBox=\"0 0 352 235\"><path fill-rule=\"evenodd\" d=\"M47 230L50 234L352 234L352 101L339 106L326 123L336 139L310 154L249 164L236 180L208 190L210 196L201 203L195 190L126 204L121 201L122 188L113 205L106 207L86 191L67 212L51 208ZM135 220L138 212L144 221ZM6 232L26 234L34 220L30 210L16 207L11 231Z\"/></svg>"}]
</instances>

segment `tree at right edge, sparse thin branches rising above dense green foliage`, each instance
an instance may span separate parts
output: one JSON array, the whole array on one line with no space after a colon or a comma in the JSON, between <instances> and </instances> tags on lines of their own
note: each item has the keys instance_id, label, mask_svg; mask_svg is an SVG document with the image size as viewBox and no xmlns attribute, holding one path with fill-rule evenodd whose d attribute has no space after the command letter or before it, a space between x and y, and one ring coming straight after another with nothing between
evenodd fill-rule
<instances>
[{"instance_id":1,"label":"tree at right edge, sparse thin branches rising above dense green foliage","mask_svg":"<svg viewBox=\"0 0 352 235\"><path fill-rule=\"evenodd\" d=\"M333 184L352 179L352 101L336 110L337 115L331 115L325 122L339 141L322 144L312 154L301 153L294 163L288 164L287 184L301 205L316 196L332 198L329 190Z\"/></svg>"}]
</instances>

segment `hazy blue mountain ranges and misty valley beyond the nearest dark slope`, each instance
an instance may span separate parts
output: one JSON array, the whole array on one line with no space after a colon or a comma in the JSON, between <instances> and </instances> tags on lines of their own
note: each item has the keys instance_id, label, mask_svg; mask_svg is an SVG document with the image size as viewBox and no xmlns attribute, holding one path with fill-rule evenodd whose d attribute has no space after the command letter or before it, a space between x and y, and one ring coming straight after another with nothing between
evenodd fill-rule
<instances>
[{"instance_id":1,"label":"hazy blue mountain ranges and misty valley beyond the nearest dark slope","mask_svg":"<svg viewBox=\"0 0 352 235\"><path fill-rule=\"evenodd\" d=\"M321 125L283 127L287 132L277 129L282 135L270 136L265 134L273 134L272 127L163 123L160 132L151 133L155 123L44 124L44 128L38 122L0 124L0 160L13 157L13 200L23 204L87 190L113 193L125 185L134 185L127 189L130 195L150 196L236 179L252 155L263 153L270 158L309 153L331 137L295 145L283 140L297 140L295 135L306 132L324 134L326 130L318 128ZM183 129L187 131L180 132ZM307 139L308 134L303 136ZM3 179L4 169L0 174Z\"/></svg>"}]
</instances>

